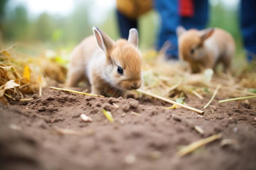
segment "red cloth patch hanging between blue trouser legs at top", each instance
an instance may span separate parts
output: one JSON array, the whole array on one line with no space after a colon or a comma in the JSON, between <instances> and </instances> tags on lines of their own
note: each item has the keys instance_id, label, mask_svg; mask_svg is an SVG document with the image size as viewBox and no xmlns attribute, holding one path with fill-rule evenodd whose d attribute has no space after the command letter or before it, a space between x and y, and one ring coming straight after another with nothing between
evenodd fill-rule
<instances>
[{"instance_id":1,"label":"red cloth patch hanging between blue trouser legs at top","mask_svg":"<svg viewBox=\"0 0 256 170\"><path fill-rule=\"evenodd\" d=\"M192 17L194 15L193 0L179 0L179 14L182 17Z\"/></svg>"}]
</instances>

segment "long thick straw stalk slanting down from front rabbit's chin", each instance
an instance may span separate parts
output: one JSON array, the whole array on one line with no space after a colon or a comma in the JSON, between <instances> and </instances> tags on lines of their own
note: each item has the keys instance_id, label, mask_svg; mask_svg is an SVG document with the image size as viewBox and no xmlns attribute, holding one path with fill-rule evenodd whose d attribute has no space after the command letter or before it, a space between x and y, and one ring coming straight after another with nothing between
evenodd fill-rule
<instances>
[{"instance_id":1,"label":"long thick straw stalk slanting down from front rabbit's chin","mask_svg":"<svg viewBox=\"0 0 256 170\"><path fill-rule=\"evenodd\" d=\"M190 107L190 106L186 106L186 105L180 104L180 103L178 103L178 102L174 102L174 101L172 101L172 100L170 100L170 99L166 99L165 97L162 97L162 96L159 96L159 95L155 95L155 94L150 93L150 92L142 91L141 89L138 89L138 90L136 90L136 91L139 92L139 93L142 93L142 94L144 94L144 95L149 95L149 96L151 96L151 97L155 97L155 98L157 98L157 99L163 100L164 102L168 102L168 103L171 103L171 104L175 104L175 105L177 105L177 106L180 106L180 107L182 107L182 108L186 108L186 109L188 109L188 110L192 110L192 111L194 111L194 112L196 112L196 113L198 113L198 114L200 114L200 115L203 115L203 114L204 114L204 111L202 111L202 110L199 110L199 109L196 109L196 108L192 108L192 107Z\"/></svg>"}]
</instances>

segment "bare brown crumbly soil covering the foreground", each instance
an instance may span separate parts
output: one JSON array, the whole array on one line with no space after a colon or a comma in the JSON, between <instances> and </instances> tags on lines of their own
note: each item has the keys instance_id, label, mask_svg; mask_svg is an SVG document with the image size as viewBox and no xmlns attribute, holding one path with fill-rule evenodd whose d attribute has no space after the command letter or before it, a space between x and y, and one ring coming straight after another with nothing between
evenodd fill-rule
<instances>
[{"instance_id":1,"label":"bare brown crumbly soil covering the foreground","mask_svg":"<svg viewBox=\"0 0 256 170\"><path fill-rule=\"evenodd\" d=\"M218 104L217 98L201 116L182 108L164 110L161 106L171 105L150 97L137 101L54 90L33 98L10 107L0 105L0 169L256 169L256 108L250 104L237 108L238 102ZM208 101L186 102L202 109ZM103 108L112 113L114 123L103 115ZM82 121L82 113L93 121ZM77 134L62 134L61 129ZM219 133L222 139L182 158L175 155L182 146ZM238 144L221 147L223 139Z\"/></svg>"}]
</instances>

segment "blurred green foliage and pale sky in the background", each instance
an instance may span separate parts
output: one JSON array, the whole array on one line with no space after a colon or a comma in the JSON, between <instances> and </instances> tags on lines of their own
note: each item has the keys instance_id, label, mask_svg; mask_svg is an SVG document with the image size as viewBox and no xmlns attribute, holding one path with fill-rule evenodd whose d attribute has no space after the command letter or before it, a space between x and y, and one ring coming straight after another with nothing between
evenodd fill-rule
<instances>
[{"instance_id":1,"label":"blurred green foliage and pale sky in the background","mask_svg":"<svg viewBox=\"0 0 256 170\"><path fill-rule=\"evenodd\" d=\"M62 49L71 51L86 36L92 35L92 26L101 28L114 40L119 37L115 0L74 0L71 12L67 14L64 11L65 15L47 11L33 14L29 12L30 9L24 2L24 0L0 0L0 30L5 46L22 42L54 51ZM211 10L208 26L229 31L236 40L238 56L243 56L240 55L243 46L238 20L239 0L209 0L209 2ZM106 3L108 3L105 5L106 9L101 10ZM48 5L51 6L52 3ZM101 8L97 8L99 5ZM159 23L160 18L155 11L150 11L139 18L139 39L142 50L154 48Z\"/></svg>"}]
</instances>

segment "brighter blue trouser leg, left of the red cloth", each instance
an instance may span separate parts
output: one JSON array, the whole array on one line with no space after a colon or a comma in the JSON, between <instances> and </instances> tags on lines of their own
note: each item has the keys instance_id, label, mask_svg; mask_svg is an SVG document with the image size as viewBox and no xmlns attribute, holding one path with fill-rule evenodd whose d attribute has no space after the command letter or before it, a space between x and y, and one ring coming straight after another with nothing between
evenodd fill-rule
<instances>
[{"instance_id":1,"label":"brighter blue trouser leg, left of the red cloth","mask_svg":"<svg viewBox=\"0 0 256 170\"><path fill-rule=\"evenodd\" d=\"M176 27L179 26L179 18L177 0L155 0L154 7L161 17L156 50L159 51L164 42L168 41L171 47L166 52L166 59L177 59L177 36Z\"/></svg>"}]
</instances>

